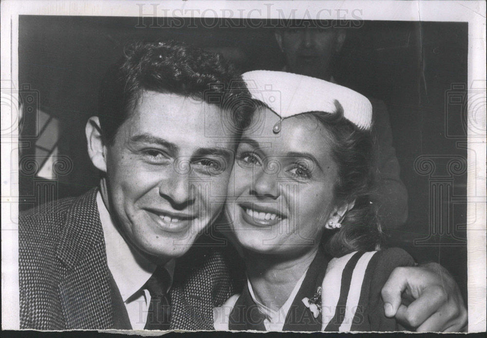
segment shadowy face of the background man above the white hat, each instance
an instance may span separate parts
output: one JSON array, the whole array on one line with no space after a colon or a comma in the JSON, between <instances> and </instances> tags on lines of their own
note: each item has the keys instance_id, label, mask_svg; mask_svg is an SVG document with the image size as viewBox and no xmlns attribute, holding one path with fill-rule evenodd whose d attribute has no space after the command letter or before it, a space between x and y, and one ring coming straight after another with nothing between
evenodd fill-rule
<instances>
[{"instance_id":1,"label":"shadowy face of the background man above the white hat","mask_svg":"<svg viewBox=\"0 0 487 338\"><path fill-rule=\"evenodd\" d=\"M334 28L297 28L277 34L288 71L329 80L329 66L341 48L344 32Z\"/></svg>"}]
</instances>

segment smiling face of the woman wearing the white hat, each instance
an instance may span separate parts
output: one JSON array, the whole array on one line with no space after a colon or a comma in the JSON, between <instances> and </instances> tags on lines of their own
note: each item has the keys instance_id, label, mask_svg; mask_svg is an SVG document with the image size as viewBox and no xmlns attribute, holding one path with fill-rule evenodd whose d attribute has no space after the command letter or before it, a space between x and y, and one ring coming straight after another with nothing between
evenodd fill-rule
<instances>
[{"instance_id":1,"label":"smiling face of the woman wearing the white hat","mask_svg":"<svg viewBox=\"0 0 487 338\"><path fill-rule=\"evenodd\" d=\"M256 120L257 119L257 120ZM330 134L313 117L256 112L258 131L245 131L228 185L226 213L246 249L289 253L315 248L334 212L337 164Z\"/></svg>"}]
</instances>

